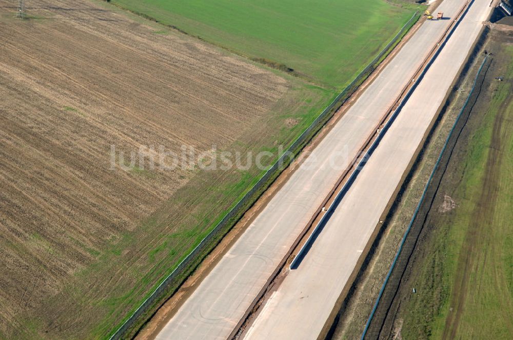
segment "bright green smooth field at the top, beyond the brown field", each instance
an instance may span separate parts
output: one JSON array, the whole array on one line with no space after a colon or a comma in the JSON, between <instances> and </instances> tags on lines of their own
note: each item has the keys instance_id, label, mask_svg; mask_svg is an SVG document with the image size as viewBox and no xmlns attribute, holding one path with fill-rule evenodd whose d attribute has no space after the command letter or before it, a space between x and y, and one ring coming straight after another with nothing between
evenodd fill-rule
<instances>
[{"instance_id":1,"label":"bright green smooth field at the top, beyond the brown field","mask_svg":"<svg viewBox=\"0 0 513 340\"><path fill-rule=\"evenodd\" d=\"M114 0L249 58L341 89L413 14L384 0Z\"/></svg>"}]
</instances>

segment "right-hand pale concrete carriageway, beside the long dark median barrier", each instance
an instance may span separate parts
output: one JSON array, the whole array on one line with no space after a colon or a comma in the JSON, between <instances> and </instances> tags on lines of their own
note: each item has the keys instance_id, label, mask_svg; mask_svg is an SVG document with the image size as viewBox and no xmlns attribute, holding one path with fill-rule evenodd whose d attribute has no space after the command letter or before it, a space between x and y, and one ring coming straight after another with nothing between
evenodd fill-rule
<instances>
[{"instance_id":1,"label":"right-hand pale concrete carriageway, beside the long dark median barrier","mask_svg":"<svg viewBox=\"0 0 513 340\"><path fill-rule=\"evenodd\" d=\"M318 337L477 38L489 4L489 0L475 0L298 269L288 273L262 308L246 339Z\"/></svg>"}]
</instances>

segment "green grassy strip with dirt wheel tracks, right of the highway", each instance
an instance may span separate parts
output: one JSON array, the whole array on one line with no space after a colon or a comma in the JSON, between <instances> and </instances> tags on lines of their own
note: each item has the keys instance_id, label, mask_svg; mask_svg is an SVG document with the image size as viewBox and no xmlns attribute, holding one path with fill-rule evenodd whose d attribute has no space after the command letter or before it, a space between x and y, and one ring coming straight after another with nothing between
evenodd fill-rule
<instances>
[{"instance_id":1,"label":"green grassy strip with dirt wheel tracks, right of the highway","mask_svg":"<svg viewBox=\"0 0 513 340\"><path fill-rule=\"evenodd\" d=\"M513 47L486 49L495 52L490 86L439 190L457 205L430 221L436 227L408 284L417 293L407 294L398 315L404 339L509 339L513 334ZM494 79L498 74L506 80Z\"/></svg>"}]
</instances>

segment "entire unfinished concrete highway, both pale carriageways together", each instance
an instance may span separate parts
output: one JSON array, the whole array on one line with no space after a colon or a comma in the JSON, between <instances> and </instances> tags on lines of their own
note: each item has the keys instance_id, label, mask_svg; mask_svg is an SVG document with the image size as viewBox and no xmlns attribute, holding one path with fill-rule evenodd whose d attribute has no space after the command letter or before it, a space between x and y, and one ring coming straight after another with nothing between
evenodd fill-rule
<instances>
[{"instance_id":1,"label":"entire unfinished concrete highway, both pale carriageways together","mask_svg":"<svg viewBox=\"0 0 513 340\"><path fill-rule=\"evenodd\" d=\"M468 7L468 11L466 10ZM444 0L352 103L243 235L176 311L157 339L232 337L294 241L408 84L415 89L381 136L317 238L242 333L248 339L315 339L490 13L489 0ZM439 53L432 53L440 48ZM436 58L435 58L436 57ZM429 68L421 79L419 71Z\"/></svg>"}]
</instances>

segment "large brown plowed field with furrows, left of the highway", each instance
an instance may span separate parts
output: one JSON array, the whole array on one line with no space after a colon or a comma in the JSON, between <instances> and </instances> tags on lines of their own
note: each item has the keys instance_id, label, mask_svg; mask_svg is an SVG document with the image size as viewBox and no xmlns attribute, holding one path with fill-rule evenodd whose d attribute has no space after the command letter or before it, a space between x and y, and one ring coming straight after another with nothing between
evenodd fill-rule
<instances>
[{"instance_id":1,"label":"large brown plowed field with furrows, left of the highway","mask_svg":"<svg viewBox=\"0 0 513 340\"><path fill-rule=\"evenodd\" d=\"M0 338L105 336L244 177L112 170L111 145L261 150L330 94L101 3L16 5L0 0Z\"/></svg>"}]
</instances>

